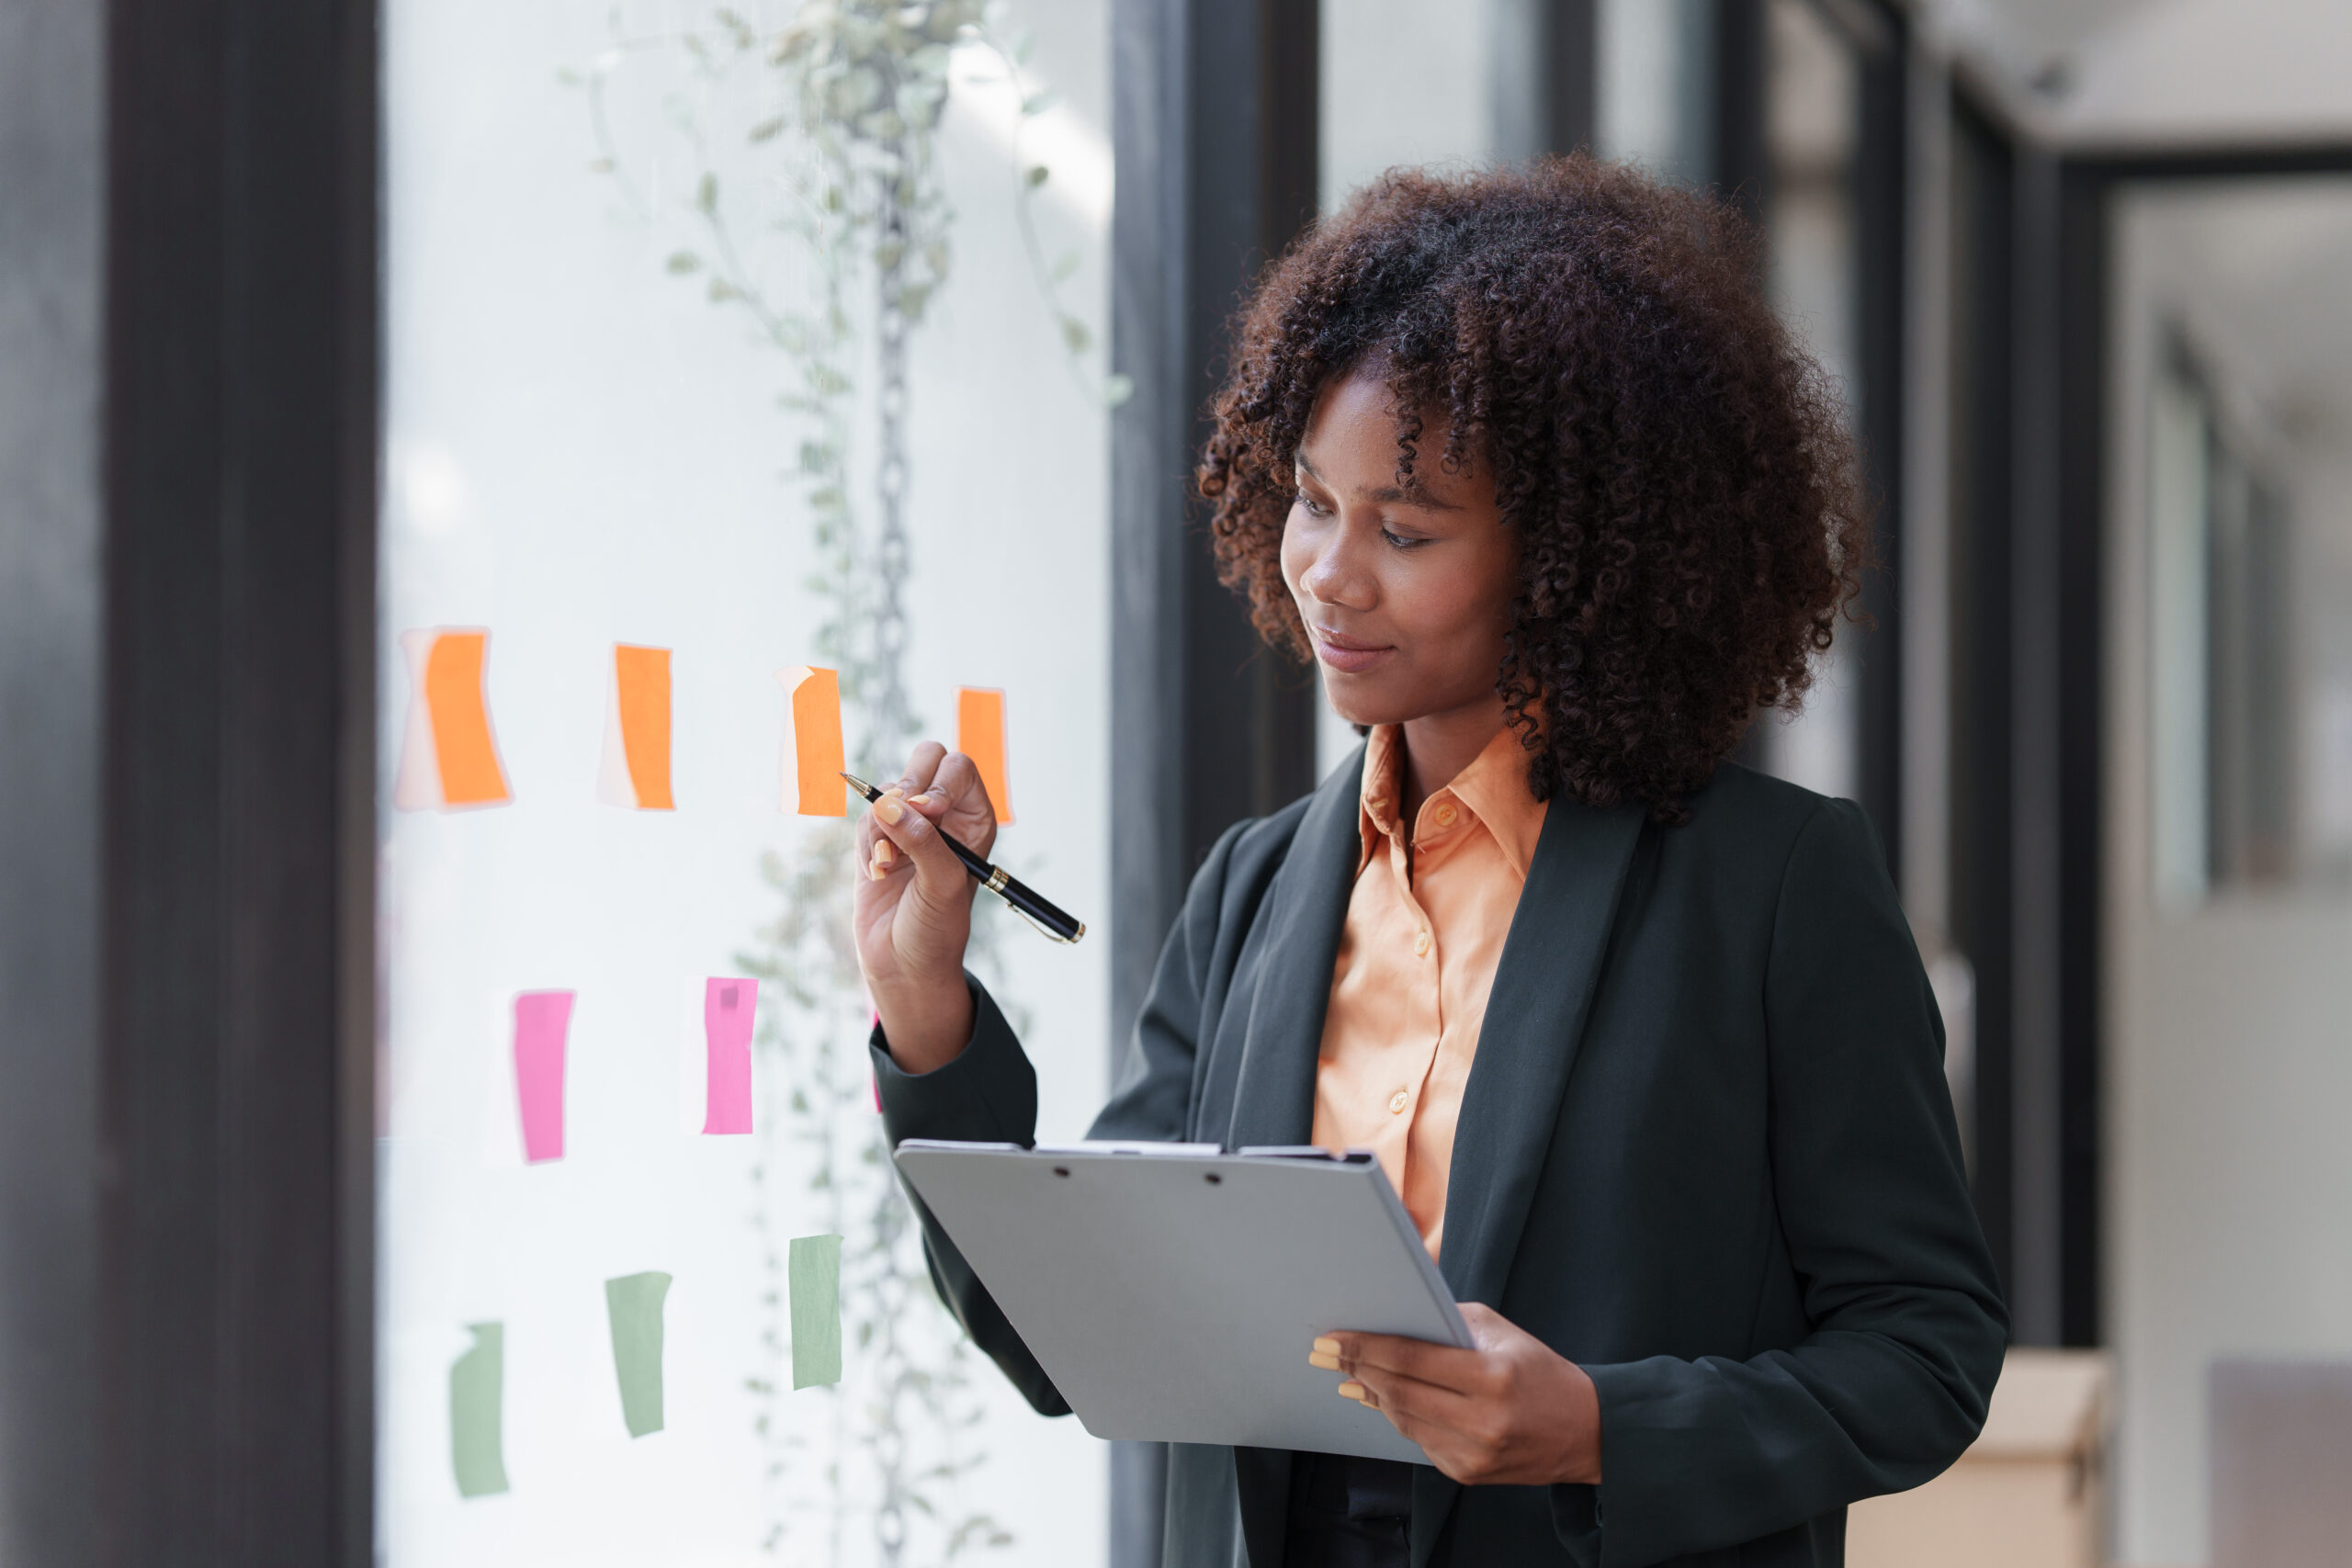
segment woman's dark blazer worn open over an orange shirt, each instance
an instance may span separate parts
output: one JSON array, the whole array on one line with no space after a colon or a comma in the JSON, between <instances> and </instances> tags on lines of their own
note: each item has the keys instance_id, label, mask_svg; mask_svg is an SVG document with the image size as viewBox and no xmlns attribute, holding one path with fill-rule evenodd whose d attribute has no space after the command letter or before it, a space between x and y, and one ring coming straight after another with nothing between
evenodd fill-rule
<instances>
[{"instance_id":1,"label":"woman's dark blazer worn open over an orange shirt","mask_svg":"<svg viewBox=\"0 0 2352 1568\"><path fill-rule=\"evenodd\" d=\"M1308 1140L1357 853L1355 766L1218 839L1096 1138ZM891 1140L1033 1140L1037 1077L974 990L971 1044L938 1072L908 1077L877 1041ZM1065 1413L922 1225L974 1342ZM1465 1488L1421 1467L1416 1568L1832 1566L1849 1502L1959 1458L2006 1314L1943 1023L1860 809L1740 766L1682 827L1552 802L1463 1093L1444 1237L1458 1300L1592 1375L1604 1481ZM1277 1568L1289 1465L1176 1446L1167 1568Z\"/></svg>"}]
</instances>

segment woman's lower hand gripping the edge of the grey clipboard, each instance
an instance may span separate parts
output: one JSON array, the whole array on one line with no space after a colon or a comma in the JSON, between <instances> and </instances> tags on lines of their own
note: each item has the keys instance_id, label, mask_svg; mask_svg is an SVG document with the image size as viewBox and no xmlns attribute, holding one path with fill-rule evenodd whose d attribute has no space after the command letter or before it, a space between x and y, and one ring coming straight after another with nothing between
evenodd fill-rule
<instances>
[{"instance_id":1,"label":"woman's lower hand gripping the edge of the grey clipboard","mask_svg":"<svg viewBox=\"0 0 2352 1568\"><path fill-rule=\"evenodd\" d=\"M1602 1401L1585 1368L1501 1312L1463 1302L1477 1349L1392 1333L1331 1333L1315 1366L1371 1406L1463 1486L1602 1479Z\"/></svg>"}]
</instances>

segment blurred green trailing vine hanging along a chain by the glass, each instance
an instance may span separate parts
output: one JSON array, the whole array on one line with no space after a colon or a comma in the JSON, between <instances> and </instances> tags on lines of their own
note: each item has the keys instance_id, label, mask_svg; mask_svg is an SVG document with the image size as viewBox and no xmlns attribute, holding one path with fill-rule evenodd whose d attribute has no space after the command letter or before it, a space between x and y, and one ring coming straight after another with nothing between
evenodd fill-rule
<instances>
[{"instance_id":1,"label":"blurred green trailing vine hanging along a chain by the glass","mask_svg":"<svg viewBox=\"0 0 2352 1568\"><path fill-rule=\"evenodd\" d=\"M957 49L985 49L1023 94L1011 172L1023 254L1080 383L1103 404L1127 395L1120 378L1094 376L1091 331L1061 301L1077 259L1044 254L1033 202L1051 172L1025 160L1021 134L1051 96L1025 85L1025 40L1002 33L1000 9L981 0L807 0L776 31L720 7L706 26L677 33L630 38L616 26L612 47L586 71L564 73L586 92L597 146L590 169L637 219L687 221L689 240L668 254L666 270L699 280L713 306L748 322L753 341L790 367L776 404L793 428L788 473L814 543L804 588L821 621L811 642L816 658L840 670L854 766L868 776L896 776L920 729L903 684L908 350L953 268L955 214L934 153ZM630 176L614 134L614 94L656 56L682 66L689 85L666 96L670 129L696 169L675 214ZM781 259L774 240L786 242ZM851 456L861 430L875 444L863 477ZM1007 1547L1011 1535L990 1514L950 1505L955 1483L983 1462L971 1352L943 1309L915 1309L936 1307L936 1298L913 1213L880 1126L856 1114L870 1077L868 1011L849 945L851 830L814 825L790 853L762 856L760 870L781 910L739 964L781 1001L760 1016L764 1103L750 1211L764 1267L764 1366L748 1378L767 1455L762 1547L781 1552L809 1514L828 1561L842 1561L856 1514L868 1514L873 1549L891 1566L915 1549L917 1523L941 1559ZM995 940L995 917L983 914L974 929L983 973L997 969ZM823 1455L788 1408L783 1375L786 1241L811 1225L844 1239L842 1314L854 1349L849 1380L828 1389Z\"/></svg>"}]
</instances>

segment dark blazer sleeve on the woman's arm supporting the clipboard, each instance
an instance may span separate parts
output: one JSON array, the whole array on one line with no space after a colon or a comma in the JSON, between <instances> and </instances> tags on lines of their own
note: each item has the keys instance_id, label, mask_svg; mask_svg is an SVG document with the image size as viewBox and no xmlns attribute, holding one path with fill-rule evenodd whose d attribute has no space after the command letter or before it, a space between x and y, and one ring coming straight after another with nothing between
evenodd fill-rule
<instances>
[{"instance_id":1,"label":"dark blazer sleeve on the woman's arm supporting the clipboard","mask_svg":"<svg viewBox=\"0 0 2352 1568\"><path fill-rule=\"evenodd\" d=\"M1811 1333L1748 1361L1588 1366L1602 1483L1555 1488L1571 1554L1637 1568L1940 1474L1976 1441L2009 1316L1959 1154L1943 1020L1870 820L1823 802L1764 983L1771 1180Z\"/></svg>"}]
</instances>

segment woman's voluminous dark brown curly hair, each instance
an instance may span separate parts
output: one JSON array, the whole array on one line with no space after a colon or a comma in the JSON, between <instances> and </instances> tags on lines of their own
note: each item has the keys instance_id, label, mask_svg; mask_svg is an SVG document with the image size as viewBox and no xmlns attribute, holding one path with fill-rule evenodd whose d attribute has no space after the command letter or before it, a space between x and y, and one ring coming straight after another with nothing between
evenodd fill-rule
<instances>
[{"instance_id":1,"label":"woman's voluminous dark brown curly hair","mask_svg":"<svg viewBox=\"0 0 2352 1568\"><path fill-rule=\"evenodd\" d=\"M1686 820L1766 705L1795 708L1870 541L1835 388L1764 303L1755 230L1585 155L1392 172L1261 277L1200 463L1218 576L1310 658L1282 583L1327 383L1397 407L1397 473L1484 461L1519 536L1496 689L1526 783Z\"/></svg>"}]
</instances>

